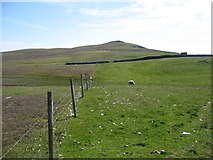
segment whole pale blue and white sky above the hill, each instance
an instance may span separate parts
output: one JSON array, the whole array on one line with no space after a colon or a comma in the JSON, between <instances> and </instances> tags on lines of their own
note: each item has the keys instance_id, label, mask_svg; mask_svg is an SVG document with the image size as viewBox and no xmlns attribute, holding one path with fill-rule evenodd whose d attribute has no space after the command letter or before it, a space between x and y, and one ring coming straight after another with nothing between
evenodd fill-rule
<instances>
[{"instance_id":1,"label":"whole pale blue and white sky above the hill","mask_svg":"<svg viewBox=\"0 0 213 160\"><path fill-rule=\"evenodd\" d=\"M211 0L3 0L1 51L121 40L211 54Z\"/></svg>"}]
</instances>

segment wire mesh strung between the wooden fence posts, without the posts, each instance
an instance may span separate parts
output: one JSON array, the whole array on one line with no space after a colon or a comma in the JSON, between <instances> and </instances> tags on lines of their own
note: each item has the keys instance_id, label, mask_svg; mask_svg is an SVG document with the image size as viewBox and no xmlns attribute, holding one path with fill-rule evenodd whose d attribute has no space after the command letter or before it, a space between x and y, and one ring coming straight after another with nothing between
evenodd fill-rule
<instances>
[{"instance_id":1,"label":"wire mesh strung between the wooden fence posts, without the posts","mask_svg":"<svg viewBox=\"0 0 213 160\"><path fill-rule=\"evenodd\" d=\"M83 84L74 82L74 95L78 103L82 97L82 92L92 85L91 77L85 74L82 79ZM83 88L82 88L83 87ZM44 94L42 91L41 94ZM54 95L54 93L53 93ZM53 96L54 97L54 96ZM47 97L44 97L45 99ZM46 101L47 102L47 101ZM39 102L38 102L39 103ZM47 106L47 103L45 104ZM63 139L67 136L66 127L73 117L73 103L71 92L65 92L53 99L53 133L54 152L61 147ZM1 158L48 158L48 118L47 112L36 118L35 123L25 131L20 138L5 151ZM57 157L58 155L56 155Z\"/></svg>"}]
</instances>

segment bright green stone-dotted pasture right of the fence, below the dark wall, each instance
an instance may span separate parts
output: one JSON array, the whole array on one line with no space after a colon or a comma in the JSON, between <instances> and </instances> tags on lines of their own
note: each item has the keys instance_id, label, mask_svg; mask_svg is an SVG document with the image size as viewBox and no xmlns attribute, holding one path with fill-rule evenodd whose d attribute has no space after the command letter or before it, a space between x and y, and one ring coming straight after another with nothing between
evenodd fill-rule
<instances>
[{"instance_id":1,"label":"bright green stone-dotted pasture right of the fence, below the dark wall","mask_svg":"<svg viewBox=\"0 0 213 160\"><path fill-rule=\"evenodd\" d=\"M79 118L71 120L67 129L71 137L58 154L75 158L210 157L210 63L199 60L98 65L99 87L89 90L81 101ZM129 79L136 85L128 87ZM182 135L184 131L191 134ZM167 153L150 154L154 150Z\"/></svg>"}]
</instances>

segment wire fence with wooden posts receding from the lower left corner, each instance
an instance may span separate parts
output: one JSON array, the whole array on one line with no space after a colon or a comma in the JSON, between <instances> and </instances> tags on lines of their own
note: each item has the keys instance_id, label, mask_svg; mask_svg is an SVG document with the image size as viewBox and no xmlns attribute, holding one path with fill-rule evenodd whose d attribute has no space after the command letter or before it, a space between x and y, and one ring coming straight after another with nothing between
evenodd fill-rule
<instances>
[{"instance_id":1,"label":"wire fence with wooden posts receding from the lower left corner","mask_svg":"<svg viewBox=\"0 0 213 160\"><path fill-rule=\"evenodd\" d=\"M36 122L33 123L13 145L11 145L4 153L1 153L0 160L3 158L10 158L7 157L8 154L24 140L28 142L30 141L30 143L23 145L25 149L23 148L23 153L20 153L20 155L33 151L34 156L42 154L43 158L48 158L49 156L50 159L53 159L56 150L61 145L60 140L63 139L63 137L66 137L68 121L71 117L77 117L78 101L84 98L85 90L89 90L93 84L92 77L88 73L85 73L84 76L83 74L80 74L80 85L74 83L73 78L70 78L70 86L68 86L70 91L59 96L60 98L57 98L57 101L53 99L52 92L47 92L45 99L47 100L46 105L48 113L44 113L42 116L38 117ZM40 92L40 94L42 92ZM39 130L36 129L38 126L41 126ZM40 138L40 140L38 140L39 136L42 136L45 139L45 146L41 143L44 139ZM22 156L24 156L23 158L26 158L25 155Z\"/></svg>"}]
</instances>

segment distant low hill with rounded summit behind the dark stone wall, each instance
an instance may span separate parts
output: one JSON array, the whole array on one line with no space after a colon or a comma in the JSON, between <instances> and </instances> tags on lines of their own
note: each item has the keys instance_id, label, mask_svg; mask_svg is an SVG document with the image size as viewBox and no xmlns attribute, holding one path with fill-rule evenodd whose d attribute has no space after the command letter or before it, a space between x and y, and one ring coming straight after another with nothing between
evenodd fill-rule
<instances>
[{"instance_id":1,"label":"distant low hill with rounded summit behind the dark stone wall","mask_svg":"<svg viewBox=\"0 0 213 160\"><path fill-rule=\"evenodd\" d=\"M178 54L148 49L140 45L126 43L123 41L111 41L98 45L87 45L75 48L53 48L53 49L24 49L10 52L3 52L3 62L11 60L26 60L57 57L78 57L79 60L94 59L119 59L136 58L147 55ZM82 58L82 59L81 59ZM91 59L92 58L92 59Z\"/></svg>"}]
</instances>

